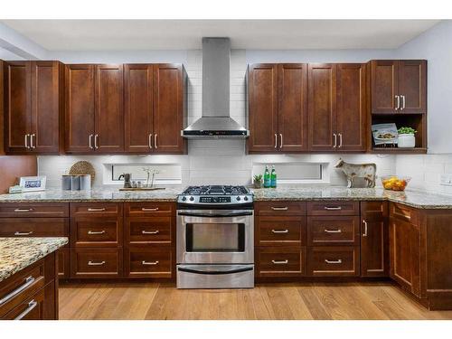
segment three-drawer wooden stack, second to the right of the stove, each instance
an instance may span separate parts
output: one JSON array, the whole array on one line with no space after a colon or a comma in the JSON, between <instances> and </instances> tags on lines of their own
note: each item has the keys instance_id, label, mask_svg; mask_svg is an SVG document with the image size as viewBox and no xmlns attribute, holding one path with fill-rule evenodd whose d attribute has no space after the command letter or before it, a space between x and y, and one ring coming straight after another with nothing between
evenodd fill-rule
<instances>
[{"instance_id":1,"label":"three-drawer wooden stack, second to the right of the stove","mask_svg":"<svg viewBox=\"0 0 452 339\"><path fill-rule=\"evenodd\" d=\"M313 277L360 275L359 202L307 202L307 271Z\"/></svg>"}]
</instances>

